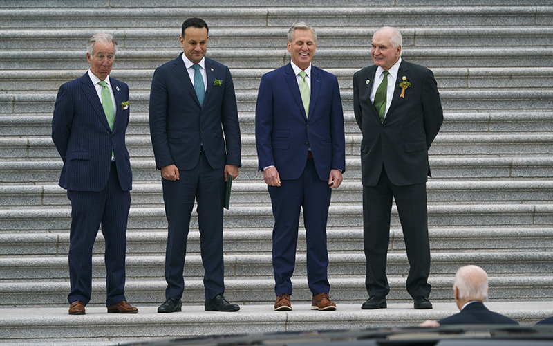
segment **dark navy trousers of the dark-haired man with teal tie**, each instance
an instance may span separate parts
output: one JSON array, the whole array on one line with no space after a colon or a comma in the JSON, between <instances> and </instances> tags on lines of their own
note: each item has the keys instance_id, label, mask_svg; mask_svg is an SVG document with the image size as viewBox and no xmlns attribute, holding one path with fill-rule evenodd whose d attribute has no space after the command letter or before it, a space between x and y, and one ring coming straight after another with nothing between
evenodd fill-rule
<instances>
[{"instance_id":1,"label":"dark navy trousers of the dark-haired man with teal tie","mask_svg":"<svg viewBox=\"0 0 553 346\"><path fill-rule=\"evenodd\" d=\"M185 289L182 273L185 268L187 237L194 200L198 202L200 251L205 275L205 299L213 299L225 291L223 282L223 203L225 170L213 169L205 153L191 170L179 170L180 179L162 179L165 214L169 226L165 252L165 298L180 299Z\"/></svg>"}]
</instances>

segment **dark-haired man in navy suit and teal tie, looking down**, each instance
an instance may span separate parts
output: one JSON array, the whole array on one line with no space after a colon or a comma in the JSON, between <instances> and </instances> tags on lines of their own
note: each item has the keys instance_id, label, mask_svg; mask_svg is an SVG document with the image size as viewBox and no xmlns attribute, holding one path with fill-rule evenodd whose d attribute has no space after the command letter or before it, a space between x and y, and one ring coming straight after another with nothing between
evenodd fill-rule
<instances>
[{"instance_id":1,"label":"dark-haired man in navy suit and teal tie, looking down","mask_svg":"<svg viewBox=\"0 0 553 346\"><path fill-rule=\"evenodd\" d=\"M175 60L153 73L150 132L161 170L169 232L165 302L160 313L181 311L182 271L194 199L205 269L205 310L238 311L223 292L223 203L228 175L238 176L241 139L234 84L227 66L205 57L208 27L199 18L182 24Z\"/></svg>"}]
</instances>

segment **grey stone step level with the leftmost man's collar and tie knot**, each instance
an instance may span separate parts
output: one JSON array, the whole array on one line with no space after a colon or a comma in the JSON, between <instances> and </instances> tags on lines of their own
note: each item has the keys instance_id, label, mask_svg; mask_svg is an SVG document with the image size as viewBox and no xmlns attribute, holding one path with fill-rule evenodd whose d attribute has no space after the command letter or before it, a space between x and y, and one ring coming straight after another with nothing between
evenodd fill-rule
<instances>
[{"instance_id":1,"label":"grey stone step level with the leftmost man's collar and tie knot","mask_svg":"<svg viewBox=\"0 0 553 346\"><path fill-rule=\"evenodd\" d=\"M552 35L553 37L553 35ZM21 91L50 91L64 82L81 77L85 69L79 70L3 70L0 71L0 91L21 93ZM257 91L261 76L271 69L232 69L234 89ZM352 89L353 74L359 69L337 68L326 71L337 75L341 90ZM497 90L521 88L547 88L547 80L553 77L552 67L468 67L432 69L440 90L482 89ZM129 84L131 91L149 91L153 69L113 69L111 76Z\"/></svg>"}]
</instances>

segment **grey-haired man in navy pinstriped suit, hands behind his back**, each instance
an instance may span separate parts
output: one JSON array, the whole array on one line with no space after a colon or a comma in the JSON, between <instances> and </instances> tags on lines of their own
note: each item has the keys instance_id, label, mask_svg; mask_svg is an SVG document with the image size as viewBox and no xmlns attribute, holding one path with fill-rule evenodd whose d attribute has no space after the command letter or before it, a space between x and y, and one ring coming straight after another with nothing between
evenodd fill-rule
<instances>
[{"instance_id":1,"label":"grey-haired man in navy pinstriped suit, hands behind his back","mask_svg":"<svg viewBox=\"0 0 553 346\"><path fill-rule=\"evenodd\" d=\"M90 69L59 88L54 108L52 139L64 161L59 186L71 200L71 315L83 315L91 300L92 248L100 224L106 240L108 312L138 312L124 295L133 176L125 146L129 87L109 77L116 46L112 35L91 37L86 53Z\"/></svg>"}]
</instances>

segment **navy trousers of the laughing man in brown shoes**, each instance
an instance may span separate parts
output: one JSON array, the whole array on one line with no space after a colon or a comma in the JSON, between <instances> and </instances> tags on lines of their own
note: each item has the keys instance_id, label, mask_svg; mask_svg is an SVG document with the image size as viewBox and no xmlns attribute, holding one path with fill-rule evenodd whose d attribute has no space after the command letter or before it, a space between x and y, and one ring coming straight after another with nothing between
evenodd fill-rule
<instances>
[{"instance_id":1,"label":"navy trousers of the laughing man in brown shoes","mask_svg":"<svg viewBox=\"0 0 553 346\"><path fill-rule=\"evenodd\" d=\"M281 186L268 186L274 215L272 266L274 293L292 294L298 239L299 215L303 208L306 228L307 280L313 295L330 291L326 250L326 221L332 190L321 181L315 163L309 158L299 179L283 180Z\"/></svg>"}]
</instances>

